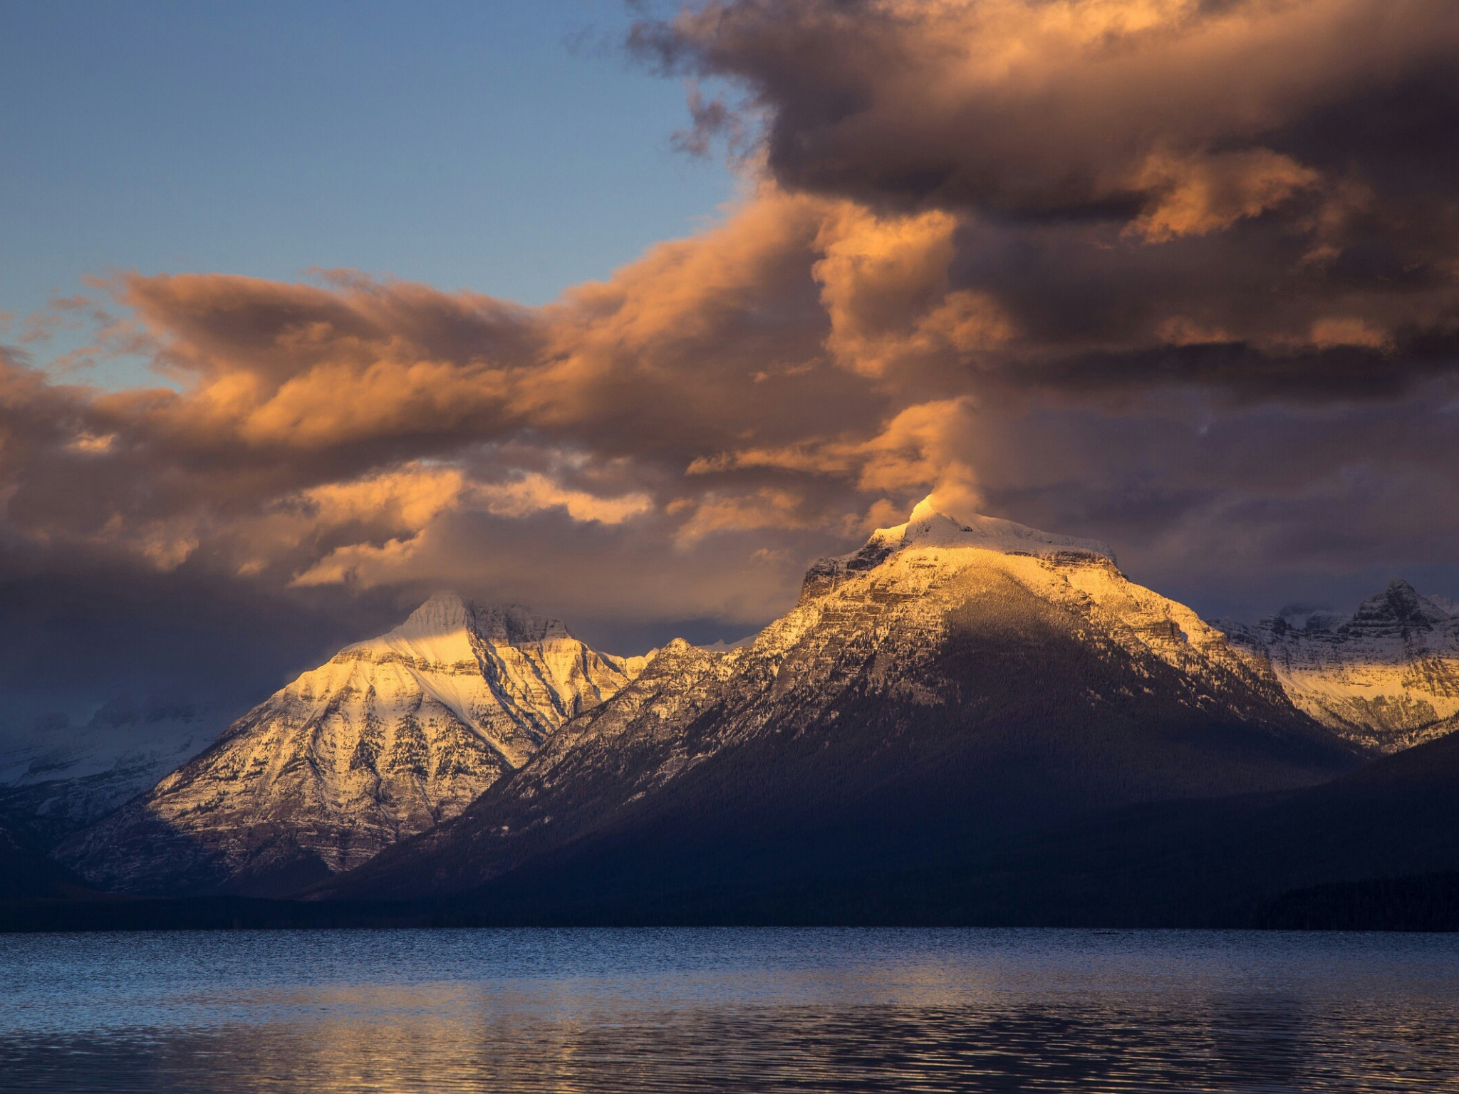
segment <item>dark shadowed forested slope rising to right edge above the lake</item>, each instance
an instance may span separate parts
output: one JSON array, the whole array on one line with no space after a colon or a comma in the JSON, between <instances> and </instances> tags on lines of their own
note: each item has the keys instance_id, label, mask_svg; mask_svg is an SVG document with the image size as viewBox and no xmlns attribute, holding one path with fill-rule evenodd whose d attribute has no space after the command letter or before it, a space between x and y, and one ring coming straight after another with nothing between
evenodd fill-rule
<instances>
[{"instance_id":1,"label":"dark shadowed forested slope rising to right edge above the lake","mask_svg":"<svg viewBox=\"0 0 1459 1094\"><path fill-rule=\"evenodd\" d=\"M1414 890L1453 891L1456 788L1450 734L1317 786L1083 815L972 849L937 874L859 877L842 894L874 894L875 916L894 922L1402 926ZM1341 906L1355 897L1366 918ZM836 899L794 901L826 910ZM1427 919L1453 929L1459 907Z\"/></svg>"}]
</instances>

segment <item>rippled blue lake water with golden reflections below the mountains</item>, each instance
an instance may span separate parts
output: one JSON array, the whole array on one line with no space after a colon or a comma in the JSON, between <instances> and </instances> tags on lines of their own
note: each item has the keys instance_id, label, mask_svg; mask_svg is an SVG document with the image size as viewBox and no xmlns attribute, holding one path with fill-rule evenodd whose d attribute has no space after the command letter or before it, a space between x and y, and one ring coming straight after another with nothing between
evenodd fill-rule
<instances>
[{"instance_id":1,"label":"rippled blue lake water with golden reflections below the mountains","mask_svg":"<svg viewBox=\"0 0 1459 1094\"><path fill-rule=\"evenodd\" d=\"M1459 939L9 935L0 1090L1459 1091Z\"/></svg>"}]
</instances>

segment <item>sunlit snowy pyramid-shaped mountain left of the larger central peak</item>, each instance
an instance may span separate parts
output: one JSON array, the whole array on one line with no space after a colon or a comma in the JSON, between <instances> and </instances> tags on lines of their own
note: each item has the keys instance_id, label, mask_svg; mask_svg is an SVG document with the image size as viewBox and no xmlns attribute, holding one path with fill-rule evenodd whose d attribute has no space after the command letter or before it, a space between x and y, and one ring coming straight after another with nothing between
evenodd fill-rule
<instances>
[{"instance_id":1,"label":"sunlit snowy pyramid-shaped mountain left of the larger central peak","mask_svg":"<svg viewBox=\"0 0 1459 1094\"><path fill-rule=\"evenodd\" d=\"M458 814L643 658L439 594L249 710L57 858L121 893L296 888Z\"/></svg>"}]
</instances>

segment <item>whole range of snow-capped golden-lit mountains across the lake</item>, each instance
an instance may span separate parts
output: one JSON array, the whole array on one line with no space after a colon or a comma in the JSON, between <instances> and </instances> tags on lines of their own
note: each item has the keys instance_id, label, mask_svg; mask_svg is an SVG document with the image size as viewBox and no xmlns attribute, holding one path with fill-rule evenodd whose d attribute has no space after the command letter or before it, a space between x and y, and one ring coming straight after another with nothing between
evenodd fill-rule
<instances>
[{"instance_id":1,"label":"whole range of snow-capped golden-lit mountains across the lake","mask_svg":"<svg viewBox=\"0 0 1459 1094\"><path fill-rule=\"evenodd\" d=\"M1459 741L1456 636L1402 582L1351 618L1205 623L1104 544L924 502L737 648L616 658L433 597L53 836L44 884L499 922L1239 919L1459 868L1424 827L1459 789L1425 766Z\"/></svg>"}]
</instances>

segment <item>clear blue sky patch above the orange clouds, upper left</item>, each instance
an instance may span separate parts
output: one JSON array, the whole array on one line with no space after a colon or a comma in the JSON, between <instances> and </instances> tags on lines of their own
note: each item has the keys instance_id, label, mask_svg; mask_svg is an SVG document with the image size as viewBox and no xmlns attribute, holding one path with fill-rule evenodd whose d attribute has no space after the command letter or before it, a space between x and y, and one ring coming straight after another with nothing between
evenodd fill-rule
<instances>
[{"instance_id":1,"label":"clear blue sky patch above the orange clouds, upper left","mask_svg":"<svg viewBox=\"0 0 1459 1094\"><path fill-rule=\"evenodd\" d=\"M541 303L734 193L722 163L671 147L684 89L617 48L620 0L0 12L9 341L114 270L352 267Z\"/></svg>"}]
</instances>

